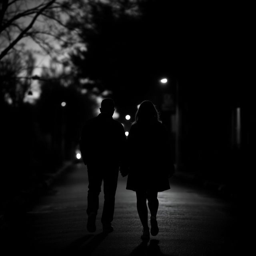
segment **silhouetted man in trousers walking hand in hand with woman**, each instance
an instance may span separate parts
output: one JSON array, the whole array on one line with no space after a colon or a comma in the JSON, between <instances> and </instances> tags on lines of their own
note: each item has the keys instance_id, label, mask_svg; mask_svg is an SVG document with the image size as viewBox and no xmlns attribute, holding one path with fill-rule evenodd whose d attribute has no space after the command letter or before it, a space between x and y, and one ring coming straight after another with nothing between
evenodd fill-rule
<instances>
[{"instance_id":1,"label":"silhouetted man in trousers walking hand in hand with woman","mask_svg":"<svg viewBox=\"0 0 256 256\"><path fill-rule=\"evenodd\" d=\"M80 137L80 150L88 171L87 230L95 232L99 208L99 194L104 182L104 206L102 212L103 232L114 230L111 222L114 216L115 194L119 167L122 162L126 136L122 124L112 118L114 101L102 100L100 114L85 122Z\"/></svg>"}]
</instances>

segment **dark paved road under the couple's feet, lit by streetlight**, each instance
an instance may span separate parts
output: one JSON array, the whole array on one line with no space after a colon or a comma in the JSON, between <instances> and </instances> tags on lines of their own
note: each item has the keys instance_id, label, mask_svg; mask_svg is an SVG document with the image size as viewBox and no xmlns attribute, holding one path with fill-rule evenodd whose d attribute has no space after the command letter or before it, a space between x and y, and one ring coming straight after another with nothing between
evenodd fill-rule
<instances>
[{"instance_id":1,"label":"dark paved road under the couple's feet, lit by streetlight","mask_svg":"<svg viewBox=\"0 0 256 256\"><path fill-rule=\"evenodd\" d=\"M29 212L10 220L2 242L7 252L33 255L235 255L238 229L232 204L175 178L170 185L170 190L159 193L160 232L150 242L140 240L135 192L125 189L126 178L121 176L114 232L102 234L101 193L97 230L90 234L86 231L87 172L83 164L76 164Z\"/></svg>"}]
</instances>

